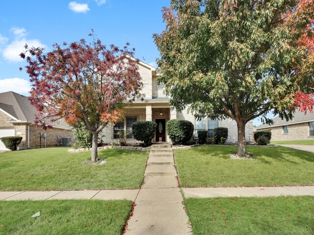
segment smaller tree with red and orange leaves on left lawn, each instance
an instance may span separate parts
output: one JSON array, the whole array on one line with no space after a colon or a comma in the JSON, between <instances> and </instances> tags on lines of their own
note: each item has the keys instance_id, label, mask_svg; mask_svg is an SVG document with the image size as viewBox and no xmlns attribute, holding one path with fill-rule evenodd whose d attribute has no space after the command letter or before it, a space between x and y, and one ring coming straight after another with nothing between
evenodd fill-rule
<instances>
[{"instance_id":1,"label":"smaller tree with red and orange leaves on left lawn","mask_svg":"<svg viewBox=\"0 0 314 235\"><path fill-rule=\"evenodd\" d=\"M81 121L93 136L92 162L98 160L99 132L122 118L125 102L140 96L137 61L128 46L106 47L93 37L89 43L84 39L64 43L63 48L54 44L48 53L26 45L20 54L27 61L36 124L47 129L60 118L70 125Z\"/></svg>"}]
</instances>

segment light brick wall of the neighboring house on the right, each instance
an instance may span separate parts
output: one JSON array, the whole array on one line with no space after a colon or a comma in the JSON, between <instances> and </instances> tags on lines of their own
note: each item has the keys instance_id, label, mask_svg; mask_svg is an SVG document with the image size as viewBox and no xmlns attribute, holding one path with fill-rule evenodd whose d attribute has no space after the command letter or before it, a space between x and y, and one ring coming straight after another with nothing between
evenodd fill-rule
<instances>
[{"instance_id":1,"label":"light brick wall of the neighboring house on the right","mask_svg":"<svg viewBox=\"0 0 314 235\"><path fill-rule=\"evenodd\" d=\"M288 134L284 134L283 126L270 126L257 131L262 130L271 130L272 141L314 140L314 136L309 136L309 122L288 125Z\"/></svg>"}]
</instances>

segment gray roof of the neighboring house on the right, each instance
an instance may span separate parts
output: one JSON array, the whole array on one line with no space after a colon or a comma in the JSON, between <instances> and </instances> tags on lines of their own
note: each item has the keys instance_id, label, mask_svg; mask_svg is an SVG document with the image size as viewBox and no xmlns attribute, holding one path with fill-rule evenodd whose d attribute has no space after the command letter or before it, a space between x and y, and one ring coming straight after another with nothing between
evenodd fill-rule
<instances>
[{"instance_id":1,"label":"gray roof of the neighboring house on the right","mask_svg":"<svg viewBox=\"0 0 314 235\"><path fill-rule=\"evenodd\" d=\"M262 128L267 128L267 127L272 127L272 126L281 126L281 125L289 125L293 123L298 123L298 122L306 122L306 121L312 121L314 120L314 112L307 112L306 115L304 112L300 112L298 110L295 111L293 114L293 119L286 121L286 119L281 119L279 117L273 118L274 124L268 125L268 124L261 124L257 127L257 129L262 129Z\"/></svg>"}]
</instances>

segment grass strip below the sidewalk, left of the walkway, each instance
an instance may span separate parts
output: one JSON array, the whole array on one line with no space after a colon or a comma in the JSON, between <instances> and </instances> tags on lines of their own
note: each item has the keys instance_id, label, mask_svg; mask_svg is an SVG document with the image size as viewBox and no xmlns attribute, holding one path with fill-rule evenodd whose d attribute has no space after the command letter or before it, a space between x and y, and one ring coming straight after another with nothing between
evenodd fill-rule
<instances>
[{"instance_id":1,"label":"grass strip below the sidewalk, left of the walkway","mask_svg":"<svg viewBox=\"0 0 314 235\"><path fill-rule=\"evenodd\" d=\"M131 206L127 200L1 201L0 234L120 235Z\"/></svg>"}]
</instances>

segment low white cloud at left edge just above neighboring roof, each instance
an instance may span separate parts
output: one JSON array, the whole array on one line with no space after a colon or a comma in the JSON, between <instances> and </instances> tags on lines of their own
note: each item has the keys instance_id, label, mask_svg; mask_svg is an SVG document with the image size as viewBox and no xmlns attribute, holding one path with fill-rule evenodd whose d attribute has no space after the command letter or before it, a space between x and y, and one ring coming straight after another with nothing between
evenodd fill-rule
<instances>
[{"instance_id":1,"label":"low white cloud at left edge just above neighboring roof","mask_svg":"<svg viewBox=\"0 0 314 235\"><path fill-rule=\"evenodd\" d=\"M27 95L30 91L30 82L18 77L0 80L0 93L9 91Z\"/></svg>"}]
</instances>

